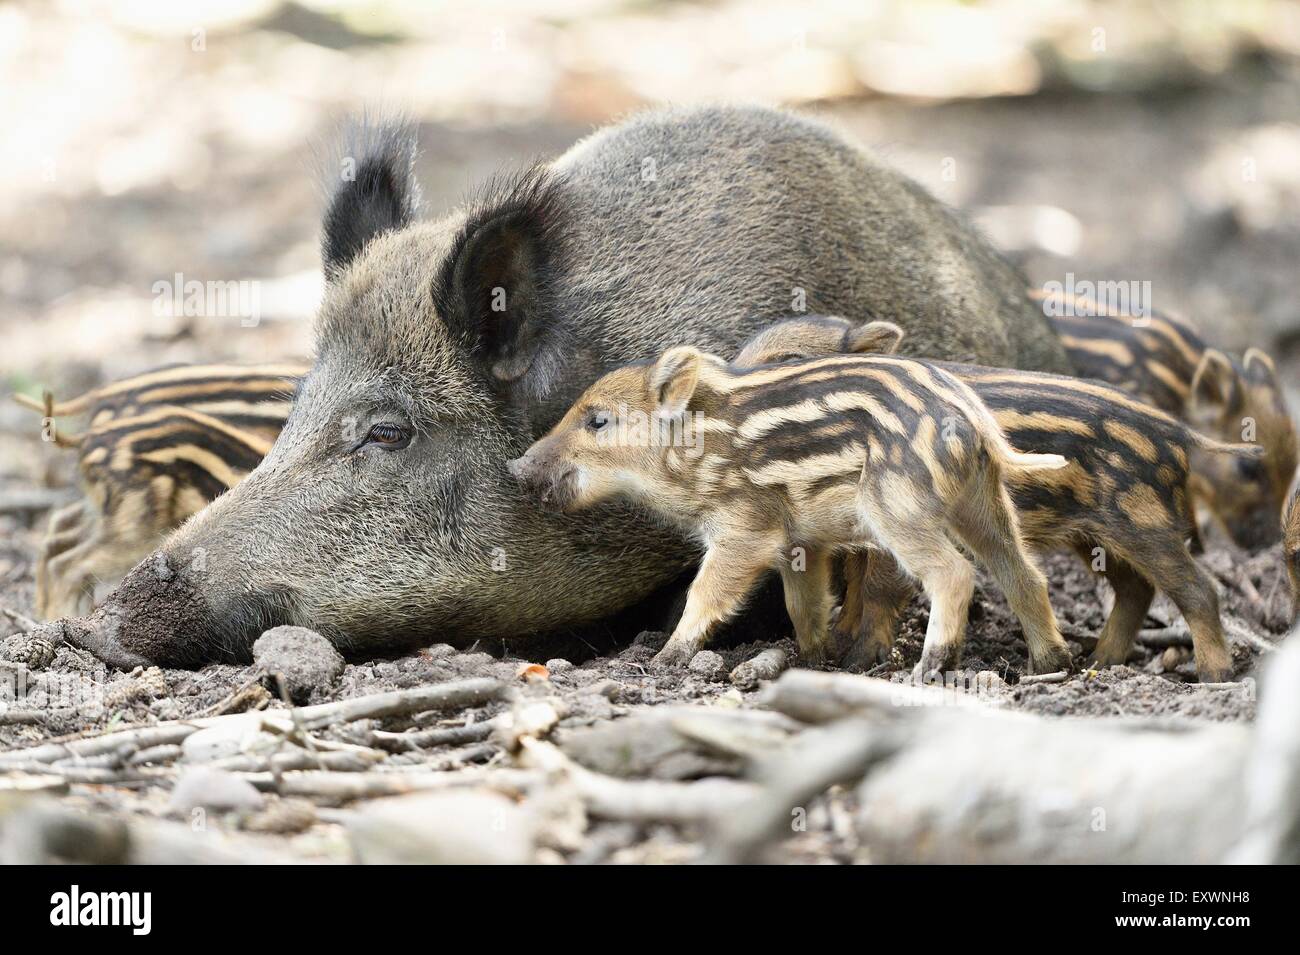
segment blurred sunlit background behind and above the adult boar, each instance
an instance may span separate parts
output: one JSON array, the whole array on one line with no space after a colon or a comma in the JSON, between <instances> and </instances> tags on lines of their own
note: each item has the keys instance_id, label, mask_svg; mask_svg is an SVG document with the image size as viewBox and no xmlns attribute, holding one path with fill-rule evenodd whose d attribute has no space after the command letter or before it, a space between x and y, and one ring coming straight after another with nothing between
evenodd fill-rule
<instances>
[{"instance_id":1,"label":"blurred sunlit background behind and above the adult boar","mask_svg":"<svg viewBox=\"0 0 1300 955\"><path fill-rule=\"evenodd\" d=\"M1035 285L1149 281L1300 379L1296 3L8 0L0 386L308 355L313 157L346 113L419 121L434 216L628 110L719 99L820 114ZM252 283L256 321L183 314L177 277ZM66 479L38 439L4 403L0 489Z\"/></svg>"}]
</instances>

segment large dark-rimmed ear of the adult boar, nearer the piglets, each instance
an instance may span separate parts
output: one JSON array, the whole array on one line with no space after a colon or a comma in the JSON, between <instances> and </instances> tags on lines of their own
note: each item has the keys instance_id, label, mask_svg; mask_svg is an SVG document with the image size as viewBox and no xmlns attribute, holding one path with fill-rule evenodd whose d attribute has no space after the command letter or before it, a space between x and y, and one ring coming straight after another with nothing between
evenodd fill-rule
<instances>
[{"instance_id":1,"label":"large dark-rimmed ear of the adult boar, nearer the piglets","mask_svg":"<svg viewBox=\"0 0 1300 955\"><path fill-rule=\"evenodd\" d=\"M550 275L562 229L559 181L538 166L490 187L434 282L434 305L493 378L533 368L549 329ZM537 382L545 391L545 382Z\"/></svg>"}]
</instances>

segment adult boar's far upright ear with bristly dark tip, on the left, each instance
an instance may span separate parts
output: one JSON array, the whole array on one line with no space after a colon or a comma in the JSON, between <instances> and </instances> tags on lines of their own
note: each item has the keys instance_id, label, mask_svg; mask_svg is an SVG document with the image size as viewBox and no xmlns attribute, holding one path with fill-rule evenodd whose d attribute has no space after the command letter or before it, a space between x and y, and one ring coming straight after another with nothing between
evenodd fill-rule
<instances>
[{"instance_id":1,"label":"adult boar's far upright ear with bristly dark tip, on the left","mask_svg":"<svg viewBox=\"0 0 1300 955\"><path fill-rule=\"evenodd\" d=\"M339 142L338 153L322 162L333 190L321 234L326 278L337 277L376 235L410 225L420 205L415 126L361 117Z\"/></svg>"}]
</instances>

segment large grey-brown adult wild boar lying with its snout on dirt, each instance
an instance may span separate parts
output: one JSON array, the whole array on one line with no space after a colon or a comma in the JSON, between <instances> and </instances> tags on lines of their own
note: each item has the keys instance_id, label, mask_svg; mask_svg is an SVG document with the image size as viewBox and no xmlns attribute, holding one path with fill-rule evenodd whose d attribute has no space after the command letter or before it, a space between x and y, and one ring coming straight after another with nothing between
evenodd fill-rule
<instances>
[{"instance_id":1,"label":"large grey-brown adult wild boar lying with its snout on dirt","mask_svg":"<svg viewBox=\"0 0 1300 955\"><path fill-rule=\"evenodd\" d=\"M1066 369L982 238L792 113L650 112L437 221L408 129L344 155L315 366L261 465L110 595L108 659L247 657L273 624L344 650L524 637L646 598L692 544L616 507L542 513L504 464L598 374L673 344L732 353L806 308L897 322L913 353Z\"/></svg>"}]
</instances>

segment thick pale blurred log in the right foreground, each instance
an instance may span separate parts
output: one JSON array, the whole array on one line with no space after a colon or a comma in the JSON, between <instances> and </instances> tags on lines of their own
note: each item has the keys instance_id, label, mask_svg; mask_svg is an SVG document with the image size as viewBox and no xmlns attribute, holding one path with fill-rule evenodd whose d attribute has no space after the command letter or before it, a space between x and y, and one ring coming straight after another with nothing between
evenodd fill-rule
<instances>
[{"instance_id":1,"label":"thick pale blurred log in the right foreground","mask_svg":"<svg viewBox=\"0 0 1300 955\"><path fill-rule=\"evenodd\" d=\"M1180 733L984 707L894 712L858 790L878 863L1218 863L1240 838L1251 728Z\"/></svg>"}]
</instances>

